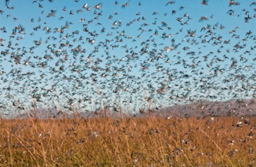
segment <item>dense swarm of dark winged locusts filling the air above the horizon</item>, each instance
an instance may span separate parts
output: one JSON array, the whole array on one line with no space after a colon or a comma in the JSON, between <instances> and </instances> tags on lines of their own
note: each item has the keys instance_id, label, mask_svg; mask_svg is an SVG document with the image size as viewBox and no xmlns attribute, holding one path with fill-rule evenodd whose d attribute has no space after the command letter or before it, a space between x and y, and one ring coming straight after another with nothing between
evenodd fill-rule
<instances>
[{"instance_id":1,"label":"dense swarm of dark winged locusts filling the air above the horizon","mask_svg":"<svg viewBox=\"0 0 256 167\"><path fill-rule=\"evenodd\" d=\"M64 2L26 1L32 14L19 18L19 2L1 1L2 115L144 112L256 97L256 2L241 8L244 1L227 0L230 23L215 22L215 13L192 18L187 1L167 1L161 11L146 1ZM239 23L226 28L232 20Z\"/></svg>"}]
</instances>

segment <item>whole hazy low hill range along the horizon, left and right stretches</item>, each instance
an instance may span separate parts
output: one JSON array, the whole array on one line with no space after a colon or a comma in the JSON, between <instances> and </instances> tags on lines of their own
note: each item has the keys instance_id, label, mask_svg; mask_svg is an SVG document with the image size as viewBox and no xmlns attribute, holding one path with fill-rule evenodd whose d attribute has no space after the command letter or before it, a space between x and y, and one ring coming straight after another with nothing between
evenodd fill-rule
<instances>
[{"instance_id":1,"label":"whole hazy low hill range along the horizon, left and right stretches","mask_svg":"<svg viewBox=\"0 0 256 167\"><path fill-rule=\"evenodd\" d=\"M105 112L109 117L120 117L120 113L106 109ZM140 113L132 113L130 116L147 117L154 114L158 117L203 117L203 116L228 116L228 115L244 115L244 116L256 116L256 99L251 100L232 100L227 102L211 102L202 101L191 103L188 105L176 105L158 110L143 110ZM73 113L57 112L52 109L38 109L36 115L30 113L32 117L38 118L72 118ZM128 115L126 115L128 116ZM27 118L27 114L22 114L16 118ZM80 112L76 114L76 117L104 117L104 111L98 110L96 112Z\"/></svg>"}]
</instances>

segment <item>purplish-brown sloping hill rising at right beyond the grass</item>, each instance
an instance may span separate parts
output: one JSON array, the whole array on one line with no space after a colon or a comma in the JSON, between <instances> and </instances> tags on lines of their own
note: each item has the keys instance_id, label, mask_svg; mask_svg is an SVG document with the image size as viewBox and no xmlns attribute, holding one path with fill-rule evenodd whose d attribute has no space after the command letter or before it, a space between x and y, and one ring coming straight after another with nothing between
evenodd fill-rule
<instances>
[{"instance_id":1,"label":"purplish-brown sloping hill rising at right beyond the grass","mask_svg":"<svg viewBox=\"0 0 256 167\"><path fill-rule=\"evenodd\" d=\"M176 105L152 110L157 116L163 117L198 117L198 116L228 116L228 115L247 115L256 116L256 99L233 100L227 102L197 102L189 105ZM144 113L139 116L145 115Z\"/></svg>"}]
</instances>

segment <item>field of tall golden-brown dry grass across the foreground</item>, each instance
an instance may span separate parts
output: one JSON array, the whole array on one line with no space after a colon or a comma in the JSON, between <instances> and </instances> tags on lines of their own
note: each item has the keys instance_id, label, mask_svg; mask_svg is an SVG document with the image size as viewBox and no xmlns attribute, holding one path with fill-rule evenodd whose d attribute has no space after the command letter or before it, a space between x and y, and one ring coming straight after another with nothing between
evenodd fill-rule
<instances>
[{"instance_id":1,"label":"field of tall golden-brown dry grass across the foreground","mask_svg":"<svg viewBox=\"0 0 256 167\"><path fill-rule=\"evenodd\" d=\"M255 166L246 119L1 120L0 166Z\"/></svg>"}]
</instances>

